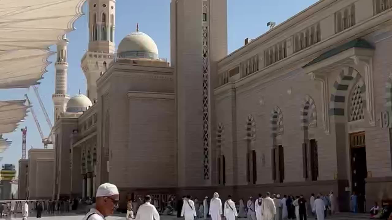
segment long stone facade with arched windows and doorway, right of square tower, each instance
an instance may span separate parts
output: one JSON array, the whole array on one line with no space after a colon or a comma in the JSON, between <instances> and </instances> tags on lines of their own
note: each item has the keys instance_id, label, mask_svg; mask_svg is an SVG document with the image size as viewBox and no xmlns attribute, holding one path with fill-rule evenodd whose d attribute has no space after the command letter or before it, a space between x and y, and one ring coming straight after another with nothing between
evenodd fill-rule
<instances>
[{"instance_id":1,"label":"long stone facade with arched windows and doorway, right of square tower","mask_svg":"<svg viewBox=\"0 0 392 220\"><path fill-rule=\"evenodd\" d=\"M341 210L352 191L366 192L368 206L392 197L390 132L377 118L387 111L392 12L376 3L319 1L218 63L222 172L234 194L334 190ZM357 148L365 168L352 162Z\"/></svg>"}]
</instances>

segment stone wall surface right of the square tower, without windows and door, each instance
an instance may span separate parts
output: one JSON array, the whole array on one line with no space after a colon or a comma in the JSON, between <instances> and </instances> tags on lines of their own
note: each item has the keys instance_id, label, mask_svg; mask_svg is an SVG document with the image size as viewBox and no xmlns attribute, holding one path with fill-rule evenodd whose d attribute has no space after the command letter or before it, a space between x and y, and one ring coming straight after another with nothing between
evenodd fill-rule
<instances>
[{"instance_id":1,"label":"stone wall surface right of the square tower, without windows and door","mask_svg":"<svg viewBox=\"0 0 392 220\"><path fill-rule=\"evenodd\" d=\"M352 4L355 7L351 7ZM325 5L330 5L330 7L322 9ZM335 27L335 13L347 8L355 9L355 23L353 27L339 32ZM304 131L301 129L301 109L303 110L305 97L310 96L316 105L317 126L309 129L308 138L316 139L318 142L318 182L338 179L337 190L341 201L345 201L351 189L349 133L365 131L368 204L381 198L392 197L390 190L387 189L390 186L389 177L392 176L390 132L388 128L381 128L380 120L381 112L387 110L385 83L392 82L388 78L392 65L392 62L388 60L392 47L392 32L390 24L374 28L376 24L383 23L387 17L391 18L392 12L385 12L382 16L374 16L374 13L372 1L336 1L333 4L328 1L319 1L218 63L218 73L226 74L236 65L243 65L250 57L256 54L262 56L259 64L260 70L256 70L249 76L240 70L238 74L241 76L238 75L228 80L232 83L226 83L215 89L216 124L222 123L224 127L222 146L226 156L226 185L247 185L247 141L245 137L249 115L254 118L256 126L256 135L251 143L251 150L256 150L257 153L256 184L264 187L268 186L265 184L273 182L271 111L278 106L283 114L284 130L281 135L278 135L277 142L284 147L284 184L298 185L298 189L301 188L299 186L305 181L302 143L307 138L304 137ZM296 22L297 19L306 15L310 17ZM313 17L317 19L311 19ZM295 36L298 30L306 30L312 25L311 23L318 21L321 27L320 42L308 45L307 48L296 51L293 55L291 55L293 51L289 54L289 49L291 49L289 47L292 45L288 44L288 57L265 67L263 53L266 48L283 40L281 39L283 37L287 38L292 34ZM354 56L346 58L345 54L349 53L346 50L335 54L332 58L325 58L325 64L317 64L319 69L325 68L324 72L316 72L319 69L315 69L314 74L311 74L306 68L305 70L302 68L324 52L356 38L365 38L370 42L375 48L374 55L369 55L372 52L367 50L368 55L359 56L360 59L356 59L355 56L358 56L357 54L361 51L355 51ZM290 39L294 38L287 39L289 43ZM367 103L364 106L365 118L355 123L347 121L350 93L356 81L348 83L339 78L342 69L348 66L358 71L366 87L363 93ZM320 76L325 77L326 84L321 83ZM336 92L335 87L341 82L348 83L348 89ZM333 103L330 100L331 95L344 96L346 102ZM330 108L341 108L341 106L344 106L344 116L326 113ZM235 153L237 157L233 157ZM232 181L233 176L235 181ZM271 185L273 186L275 184ZM348 188L345 189L345 187ZM347 189L348 192L345 192Z\"/></svg>"}]
</instances>

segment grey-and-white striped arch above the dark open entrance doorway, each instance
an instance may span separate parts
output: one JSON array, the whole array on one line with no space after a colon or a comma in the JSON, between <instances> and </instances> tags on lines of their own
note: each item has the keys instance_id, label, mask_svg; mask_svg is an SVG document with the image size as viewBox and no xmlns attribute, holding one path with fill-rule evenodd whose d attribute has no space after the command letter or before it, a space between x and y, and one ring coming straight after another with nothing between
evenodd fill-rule
<instances>
[{"instance_id":1,"label":"grey-and-white striped arch above the dark open entrance doorway","mask_svg":"<svg viewBox=\"0 0 392 220\"><path fill-rule=\"evenodd\" d=\"M358 82L358 85L361 87L362 99L364 102L364 106L366 106L366 96L365 96L365 83L361 78L359 72L352 67L345 67L339 73L338 78L334 83L334 88L331 92L331 99L329 103L329 115L334 116L344 116L345 112L345 102L347 96L347 90L350 87L351 83Z\"/></svg>"}]
</instances>

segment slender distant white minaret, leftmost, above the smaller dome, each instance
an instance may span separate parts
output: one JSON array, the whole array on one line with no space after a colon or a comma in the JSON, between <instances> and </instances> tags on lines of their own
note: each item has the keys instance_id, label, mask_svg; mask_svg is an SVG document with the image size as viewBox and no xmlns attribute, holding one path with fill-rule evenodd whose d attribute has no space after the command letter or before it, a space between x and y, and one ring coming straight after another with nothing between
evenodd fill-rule
<instances>
[{"instance_id":1,"label":"slender distant white minaret, leftmost, above the smaller dome","mask_svg":"<svg viewBox=\"0 0 392 220\"><path fill-rule=\"evenodd\" d=\"M64 35L63 40L57 44L57 58L56 63L54 63L54 68L56 72L56 82L54 86L54 94L52 95L54 103L54 123L61 113L65 112L65 107L69 100L67 95L67 45L68 39Z\"/></svg>"}]
</instances>

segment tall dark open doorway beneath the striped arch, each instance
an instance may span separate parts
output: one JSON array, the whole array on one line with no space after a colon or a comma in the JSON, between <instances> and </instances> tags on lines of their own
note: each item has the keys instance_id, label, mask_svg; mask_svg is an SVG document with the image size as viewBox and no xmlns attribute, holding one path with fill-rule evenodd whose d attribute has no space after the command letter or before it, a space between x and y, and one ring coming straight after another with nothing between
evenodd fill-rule
<instances>
[{"instance_id":1,"label":"tall dark open doorway beneath the striped arch","mask_svg":"<svg viewBox=\"0 0 392 220\"><path fill-rule=\"evenodd\" d=\"M367 178L365 132L350 134L352 191L358 196L358 211L365 211L365 179Z\"/></svg>"}]
</instances>

